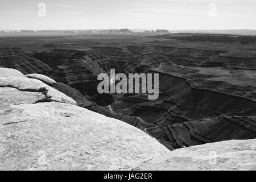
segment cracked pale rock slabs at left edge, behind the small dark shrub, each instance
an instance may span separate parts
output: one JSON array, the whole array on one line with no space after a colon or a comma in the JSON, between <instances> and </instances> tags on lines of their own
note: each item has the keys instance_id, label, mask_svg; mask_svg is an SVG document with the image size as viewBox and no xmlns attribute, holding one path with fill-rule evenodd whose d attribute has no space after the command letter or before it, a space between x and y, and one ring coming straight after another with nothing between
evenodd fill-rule
<instances>
[{"instance_id":1,"label":"cracked pale rock slabs at left edge, behind the small dark shrub","mask_svg":"<svg viewBox=\"0 0 256 182\"><path fill-rule=\"evenodd\" d=\"M3 69L2 69L3 70ZM22 73L21 73L22 74ZM1 76L3 75L3 76ZM20 75L15 69L6 68L0 75L0 98L1 104L32 104L44 98L40 88L48 90L47 95L51 97L49 101L64 102L77 105L71 97L53 89L40 80L27 78Z\"/></svg>"}]
</instances>

